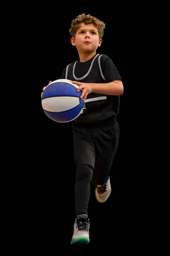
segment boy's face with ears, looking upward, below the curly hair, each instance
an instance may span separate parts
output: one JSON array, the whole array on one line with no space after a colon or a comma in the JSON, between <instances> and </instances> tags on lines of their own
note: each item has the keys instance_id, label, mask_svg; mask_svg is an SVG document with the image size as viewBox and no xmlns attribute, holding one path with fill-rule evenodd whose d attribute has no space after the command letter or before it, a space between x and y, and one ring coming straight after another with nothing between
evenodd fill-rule
<instances>
[{"instance_id":1,"label":"boy's face with ears, looking upward, below the curly hair","mask_svg":"<svg viewBox=\"0 0 170 256\"><path fill-rule=\"evenodd\" d=\"M98 30L93 24L82 23L75 38L71 38L71 44L76 46L78 52L93 53L102 44L102 39L99 39Z\"/></svg>"}]
</instances>

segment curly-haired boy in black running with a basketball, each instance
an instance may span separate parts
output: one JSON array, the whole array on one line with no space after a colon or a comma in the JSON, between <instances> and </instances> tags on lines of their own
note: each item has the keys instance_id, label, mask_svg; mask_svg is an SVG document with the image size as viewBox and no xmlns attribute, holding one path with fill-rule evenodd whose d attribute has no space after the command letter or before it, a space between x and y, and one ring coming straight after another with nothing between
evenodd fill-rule
<instances>
[{"instance_id":1,"label":"curly-haired boy in black running with a basketball","mask_svg":"<svg viewBox=\"0 0 170 256\"><path fill-rule=\"evenodd\" d=\"M91 15L79 15L71 22L71 44L79 60L63 70L60 79L69 79L82 90L83 113L72 122L74 138L75 223L71 244L89 243L88 202L91 182L96 200L105 202L111 195L109 172L119 143L119 95L122 78L107 55L96 54L102 44L105 23ZM51 82L51 81L50 81ZM49 82L49 83L50 83ZM45 87L42 89L44 90Z\"/></svg>"}]
</instances>

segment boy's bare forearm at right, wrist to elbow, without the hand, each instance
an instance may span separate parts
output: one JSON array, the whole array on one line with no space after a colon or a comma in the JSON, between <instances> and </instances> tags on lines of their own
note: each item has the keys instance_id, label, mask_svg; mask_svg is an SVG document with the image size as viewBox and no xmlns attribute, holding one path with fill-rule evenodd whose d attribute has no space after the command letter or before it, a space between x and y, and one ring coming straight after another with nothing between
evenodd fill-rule
<instances>
[{"instance_id":1,"label":"boy's bare forearm at right, wrist to elbow, without the hand","mask_svg":"<svg viewBox=\"0 0 170 256\"><path fill-rule=\"evenodd\" d=\"M122 95L123 84L122 81L113 81L105 84L90 83L93 93L102 93L106 95Z\"/></svg>"}]
</instances>

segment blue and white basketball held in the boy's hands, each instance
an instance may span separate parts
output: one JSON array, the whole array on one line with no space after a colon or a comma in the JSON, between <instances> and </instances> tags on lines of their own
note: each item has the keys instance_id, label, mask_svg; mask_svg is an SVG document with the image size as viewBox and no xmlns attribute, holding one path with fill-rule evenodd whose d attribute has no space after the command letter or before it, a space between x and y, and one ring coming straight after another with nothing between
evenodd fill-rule
<instances>
[{"instance_id":1,"label":"blue and white basketball held in the boy's hands","mask_svg":"<svg viewBox=\"0 0 170 256\"><path fill-rule=\"evenodd\" d=\"M82 112L85 105L77 92L78 85L68 79L58 79L48 84L42 93L42 108L46 116L55 122L71 122Z\"/></svg>"}]
</instances>

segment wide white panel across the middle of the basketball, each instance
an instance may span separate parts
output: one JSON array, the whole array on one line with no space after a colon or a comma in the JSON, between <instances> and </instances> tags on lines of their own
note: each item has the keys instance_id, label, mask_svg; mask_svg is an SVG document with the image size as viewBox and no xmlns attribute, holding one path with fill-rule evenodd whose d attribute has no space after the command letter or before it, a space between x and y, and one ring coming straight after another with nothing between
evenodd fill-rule
<instances>
[{"instance_id":1,"label":"wide white panel across the middle of the basketball","mask_svg":"<svg viewBox=\"0 0 170 256\"><path fill-rule=\"evenodd\" d=\"M63 104L63 102L65 103ZM58 96L42 100L42 108L49 112L62 112L77 107L80 104L78 97Z\"/></svg>"}]
</instances>

